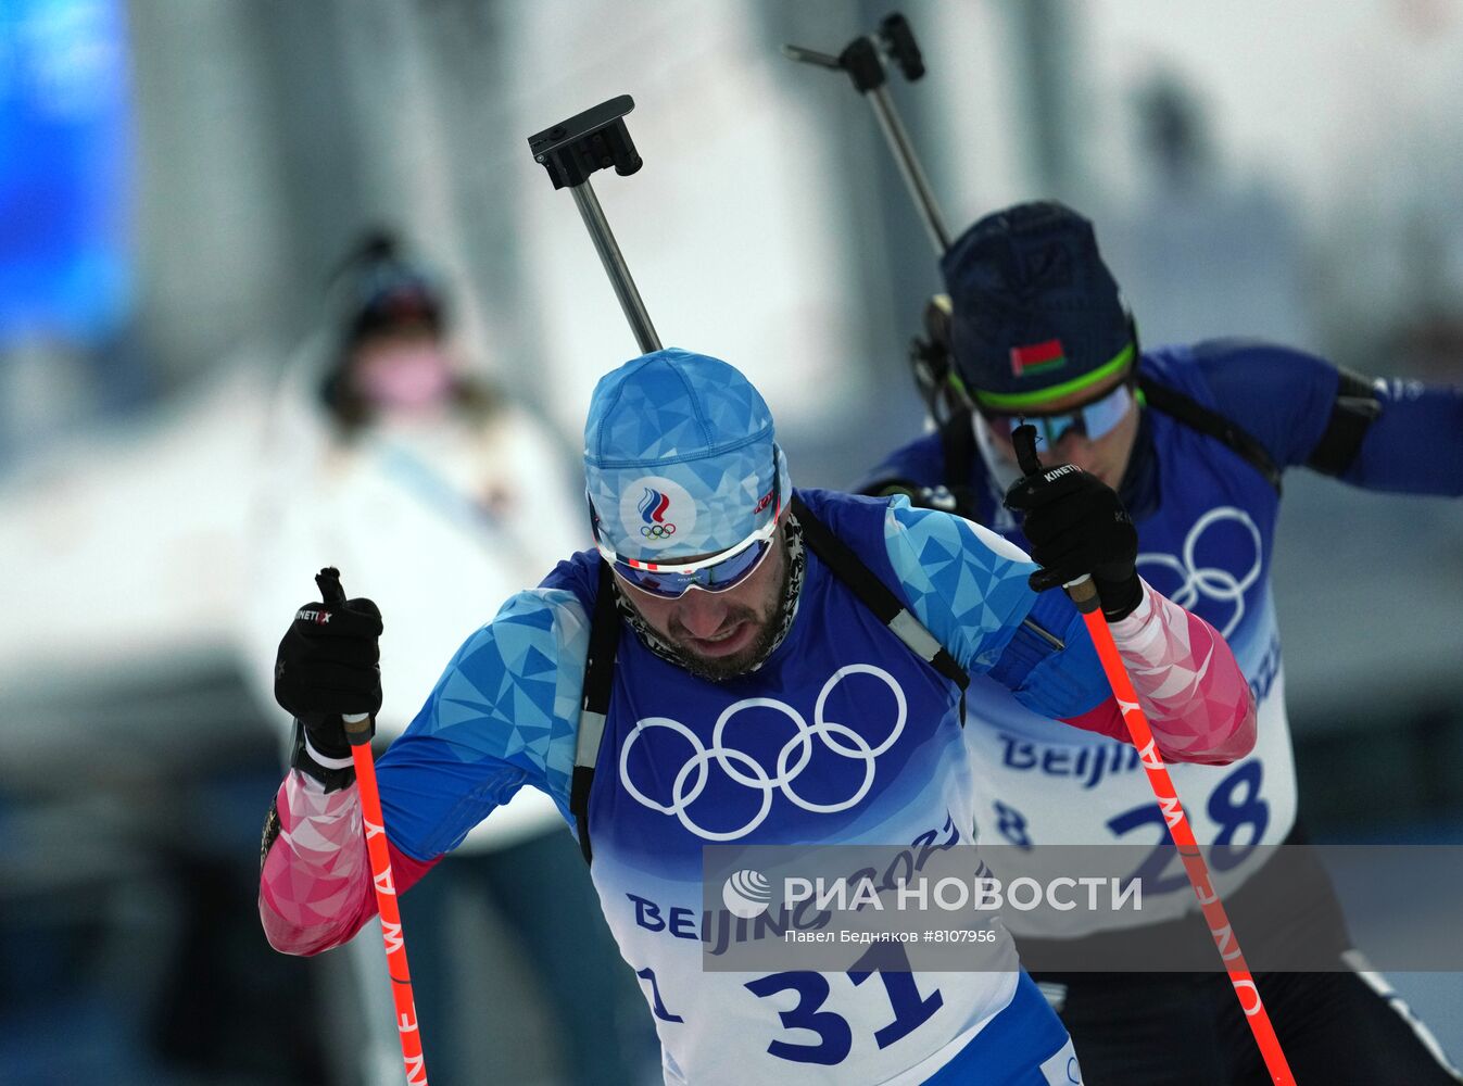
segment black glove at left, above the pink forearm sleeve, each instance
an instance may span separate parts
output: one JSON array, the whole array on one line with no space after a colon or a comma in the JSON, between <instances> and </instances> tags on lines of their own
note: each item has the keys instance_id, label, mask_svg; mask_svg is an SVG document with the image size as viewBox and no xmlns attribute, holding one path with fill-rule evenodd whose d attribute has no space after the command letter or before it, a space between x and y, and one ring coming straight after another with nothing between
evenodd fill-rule
<instances>
[{"instance_id":1,"label":"black glove at left, above the pink forearm sleeve","mask_svg":"<svg viewBox=\"0 0 1463 1086\"><path fill-rule=\"evenodd\" d=\"M334 568L322 569L315 583L323 602L301 606L279 641L275 701L294 714L319 754L350 758L341 714L380 711L380 610L367 599L347 600ZM322 768L298 742L293 764L306 773Z\"/></svg>"}]
</instances>

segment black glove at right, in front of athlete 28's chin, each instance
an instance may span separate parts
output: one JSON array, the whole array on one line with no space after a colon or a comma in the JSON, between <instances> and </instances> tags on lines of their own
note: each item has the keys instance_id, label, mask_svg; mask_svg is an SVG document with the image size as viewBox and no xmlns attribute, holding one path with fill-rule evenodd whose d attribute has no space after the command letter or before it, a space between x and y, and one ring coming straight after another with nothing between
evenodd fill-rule
<instances>
[{"instance_id":1,"label":"black glove at right, in front of athlete 28's chin","mask_svg":"<svg viewBox=\"0 0 1463 1086\"><path fill-rule=\"evenodd\" d=\"M1030 427L1023 427L1030 429ZM1011 484L1005 506L1026 514L1023 530L1031 558L1042 565L1028 578L1033 591L1046 591L1091 574L1103 615L1116 622L1143 602L1138 581L1138 530L1122 508L1118 493L1087 471L1071 464L1042 468L1034 446L1021 452L1021 479Z\"/></svg>"}]
</instances>

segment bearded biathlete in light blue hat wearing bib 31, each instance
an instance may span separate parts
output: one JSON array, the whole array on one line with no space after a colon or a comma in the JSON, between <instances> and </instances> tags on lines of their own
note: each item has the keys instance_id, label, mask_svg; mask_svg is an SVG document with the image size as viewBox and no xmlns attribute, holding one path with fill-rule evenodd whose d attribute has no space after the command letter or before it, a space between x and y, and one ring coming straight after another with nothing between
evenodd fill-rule
<instances>
[{"instance_id":1,"label":"bearded biathlete in light blue hat wearing bib 31","mask_svg":"<svg viewBox=\"0 0 1463 1086\"><path fill-rule=\"evenodd\" d=\"M909 957L882 984L875 965L707 969L705 950L748 926L704 910L702 864L715 842L961 840L974 804L961 741L970 669L1071 726L1115 733L1096 660L1078 663L1045 632L1083 619L1061 593L1033 588L1078 571L1094 575L1165 755L1248 751L1254 705L1233 657L1138 580L1116 495L1069 468L1021 480L1011 501L1028 509L1036 562L1052 563L1037 569L957 517L794 490L761 394L734 367L676 348L600 381L584 461L590 502L573 508L595 547L473 632L377 763L404 900L531 784L576 827L644 981L667 1083L1067 1082L1071 1044L1004 934L982 972L911 972ZM265 931L297 954L338 945L375 915L341 714L380 704L382 669L394 682L376 648L383 610L323 575L320 590L279 644L275 695L303 720L304 745L269 814L260 871ZM770 710L775 724L753 717L723 736L733 717ZM805 732L793 765L787 719ZM859 748L865 757L849 757ZM603 1014L584 991L573 998L581 1022Z\"/></svg>"}]
</instances>

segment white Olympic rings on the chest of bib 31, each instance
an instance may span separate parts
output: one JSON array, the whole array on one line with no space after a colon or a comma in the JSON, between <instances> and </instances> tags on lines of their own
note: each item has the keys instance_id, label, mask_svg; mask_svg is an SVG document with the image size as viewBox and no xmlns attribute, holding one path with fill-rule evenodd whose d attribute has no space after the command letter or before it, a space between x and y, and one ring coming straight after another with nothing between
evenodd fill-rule
<instances>
[{"instance_id":1,"label":"white Olympic rings on the chest of bib 31","mask_svg":"<svg viewBox=\"0 0 1463 1086\"><path fill-rule=\"evenodd\" d=\"M888 736L885 736L884 742L876 746L870 745L868 739L854 732L850 726L830 720L825 716L828 695L832 694L834 688L837 688L838 684L850 675L872 675L873 678L882 681L884 685L894 694L894 723ZM865 707L869 704L869 700L860 697L857 704ZM796 729L793 736L789 738L777 752L775 774L768 773L768 770L746 751L726 742L727 726L737 716L737 713L748 708L775 710L777 713L786 716ZM828 678L828 682L824 684L822 691L818 694L818 701L813 704L812 724L809 724L803 716L786 701L778 701L777 698L743 698L742 701L729 705L721 713L717 719L715 727L711 730L711 746L707 746L701 742L695 732L679 720L673 720L670 717L642 717L635 723L635 730L625 738L625 745L620 748L620 783L625 786L625 790L629 792L642 806L648 806L651 811L660 811L666 815L676 815L680 824L698 837L708 842L732 842L739 837L745 837L762 824L772 809L774 792L780 792L787 802L813 814L835 814L857 805L859 801L869 793L869 789L873 787L875 763L878 761L878 757L890 749L894 745L894 741L900 738L900 733L904 730L907 716L909 704L904 700L904 689L894 681L894 676L882 667L875 667L868 663L854 663L840 667ZM691 744L692 751L691 757L682 763L679 770L674 771L674 776L670 774L670 770L666 770L664 773L666 777L672 779L669 804L661 804L641 792L635 786L635 782L631 780L629 773L629 758L635 744L657 727L674 732L677 736ZM838 799L831 804L816 804L805 796L800 796L794 789L797 777L805 768L808 768L813 758L815 738L819 741L821 751L827 751L838 758L859 764L859 783L853 786L851 793L846 799ZM657 758L657 763L658 761L660 758ZM691 805L696 802L705 789L707 782L711 777L712 763L715 763L717 768L730 777L733 783L740 784L753 795L761 796L756 812L733 830L708 830L691 817ZM853 784L853 780L850 779L847 783Z\"/></svg>"}]
</instances>

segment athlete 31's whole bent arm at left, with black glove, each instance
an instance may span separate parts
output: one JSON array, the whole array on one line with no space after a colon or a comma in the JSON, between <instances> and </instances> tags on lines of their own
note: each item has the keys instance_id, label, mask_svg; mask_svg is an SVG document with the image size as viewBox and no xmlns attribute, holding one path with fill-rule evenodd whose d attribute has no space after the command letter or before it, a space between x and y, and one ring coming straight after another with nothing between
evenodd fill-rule
<instances>
[{"instance_id":1,"label":"athlete 31's whole bent arm at left, with black glove","mask_svg":"<svg viewBox=\"0 0 1463 1086\"><path fill-rule=\"evenodd\" d=\"M376 913L341 713L380 705L379 634L369 600L306 604L279 645L275 694L300 723L265 824L259 915L271 945L285 953L336 947ZM377 761L396 893L525 783L568 809L565 767L573 760L587 638L582 609L568 593L534 590L509 599L454 656ZM540 666L559 660L573 663ZM515 719L493 697L505 688L514 691ZM547 748L515 744L515 724L528 722L552 722Z\"/></svg>"}]
</instances>

